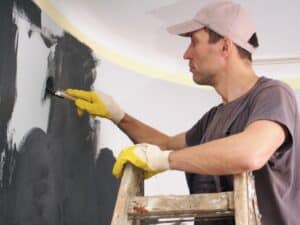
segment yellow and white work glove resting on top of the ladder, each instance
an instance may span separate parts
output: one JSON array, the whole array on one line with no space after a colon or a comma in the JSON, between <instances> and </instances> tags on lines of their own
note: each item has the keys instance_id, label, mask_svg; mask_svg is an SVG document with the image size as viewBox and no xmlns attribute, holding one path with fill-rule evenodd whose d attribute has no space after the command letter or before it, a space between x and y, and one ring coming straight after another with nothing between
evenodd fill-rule
<instances>
[{"instance_id":1,"label":"yellow and white work glove resting on top of the ladder","mask_svg":"<svg viewBox=\"0 0 300 225\"><path fill-rule=\"evenodd\" d=\"M144 177L149 178L170 168L169 154L156 145L137 144L127 147L119 154L114 164L113 175L120 178L126 163L144 170Z\"/></svg>"}]
</instances>

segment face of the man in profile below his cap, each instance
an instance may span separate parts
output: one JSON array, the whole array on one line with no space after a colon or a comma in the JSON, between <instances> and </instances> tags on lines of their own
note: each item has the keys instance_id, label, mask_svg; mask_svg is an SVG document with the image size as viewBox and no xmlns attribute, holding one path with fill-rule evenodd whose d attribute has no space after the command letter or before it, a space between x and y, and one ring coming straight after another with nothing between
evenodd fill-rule
<instances>
[{"instance_id":1,"label":"face of the man in profile below his cap","mask_svg":"<svg viewBox=\"0 0 300 225\"><path fill-rule=\"evenodd\" d=\"M190 45L183 57L189 60L195 83L211 86L216 84L223 62L220 47L218 42L209 43L209 34L204 29L191 34Z\"/></svg>"}]
</instances>

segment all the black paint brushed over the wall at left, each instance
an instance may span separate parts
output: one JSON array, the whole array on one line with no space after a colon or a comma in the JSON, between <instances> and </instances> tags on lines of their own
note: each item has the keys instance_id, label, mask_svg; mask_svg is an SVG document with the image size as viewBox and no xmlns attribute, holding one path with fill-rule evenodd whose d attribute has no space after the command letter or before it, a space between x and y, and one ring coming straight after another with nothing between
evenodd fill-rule
<instances>
[{"instance_id":1,"label":"all the black paint brushed over the wall at left","mask_svg":"<svg viewBox=\"0 0 300 225\"><path fill-rule=\"evenodd\" d=\"M98 60L91 50L67 33L43 32L41 13L29 0L0 3L0 225L107 225L119 182L111 175L112 151L102 149L96 158L96 120L78 117L70 101L49 97L46 131L28 127L19 145L13 134L7 135L18 102L17 53L22 51L16 17L32 24L29 37L38 32L40 42L49 49L48 59L28 60L37 67L39 61L48 60L48 74L43 76L52 76L55 88L88 90L96 76ZM39 49L32 46L32 51ZM38 88L42 84L24 85ZM31 115L24 117L31 119Z\"/></svg>"}]
</instances>

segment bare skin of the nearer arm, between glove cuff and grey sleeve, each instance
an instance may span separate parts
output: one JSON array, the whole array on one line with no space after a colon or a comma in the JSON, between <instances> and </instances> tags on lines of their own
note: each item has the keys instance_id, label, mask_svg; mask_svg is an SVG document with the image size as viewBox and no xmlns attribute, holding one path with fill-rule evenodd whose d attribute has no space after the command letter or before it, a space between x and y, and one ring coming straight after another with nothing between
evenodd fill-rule
<instances>
[{"instance_id":1,"label":"bare skin of the nearer arm, between glove cuff and grey sleeve","mask_svg":"<svg viewBox=\"0 0 300 225\"><path fill-rule=\"evenodd\" d=\"M170 169L210 175L257 170L285 137L286 131L280 124L259 120L239 134L171 152Z\"/></svg>"}]
</instances>

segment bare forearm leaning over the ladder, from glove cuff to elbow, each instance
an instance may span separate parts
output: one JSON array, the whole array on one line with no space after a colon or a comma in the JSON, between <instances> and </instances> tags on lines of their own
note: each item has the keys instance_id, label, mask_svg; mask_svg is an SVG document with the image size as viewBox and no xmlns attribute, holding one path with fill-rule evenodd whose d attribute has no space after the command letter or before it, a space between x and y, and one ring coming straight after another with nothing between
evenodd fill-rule
<instances>
[{"instance_id":1,"label":"bare forearm leaning over the ladder, from glove cuff to elbow","mask_svg":"<svg viewBox=\"0 0 300 225\"><path fill-rule=\"evenodd\" d=\"M224 138L172 152L169 156L170 168L208 175L246 171L249 166L243 160L243 151L233 141Z\"/></svg>"}]
</instances>

